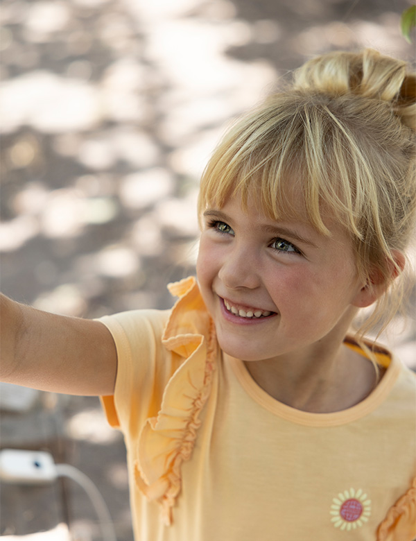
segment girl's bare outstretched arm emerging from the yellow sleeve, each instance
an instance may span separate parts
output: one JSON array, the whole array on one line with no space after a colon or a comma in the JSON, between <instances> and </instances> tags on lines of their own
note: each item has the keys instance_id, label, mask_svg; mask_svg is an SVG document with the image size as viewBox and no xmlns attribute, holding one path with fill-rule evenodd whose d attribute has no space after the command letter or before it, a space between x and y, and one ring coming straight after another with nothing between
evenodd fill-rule
<instances>
[{"instance_id":1,"label":"girl's bare outstretched arm emerging from the yellow sleeve","mask_svg":"<svg viewBox=\"0 0 416 541\"><path fill-rule=\"evenodd\" d=\"M0 379L73 395L111 395L117 354L98 321L57 316L0 296Z\"/></svg>"}]
</instances>

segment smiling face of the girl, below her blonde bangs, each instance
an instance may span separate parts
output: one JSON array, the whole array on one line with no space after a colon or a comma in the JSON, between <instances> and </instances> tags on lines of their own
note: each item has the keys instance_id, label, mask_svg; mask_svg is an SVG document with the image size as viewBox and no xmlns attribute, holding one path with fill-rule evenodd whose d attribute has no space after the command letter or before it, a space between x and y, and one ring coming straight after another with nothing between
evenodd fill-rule
<instances>
[{"instance_id":1,"label":"smiling face of the girl, below her blonde bangs","mask_svg":"<svg viewBox=\"0 0 416 541\"><path fill-rule=\"evenodd\" d=\"M343 341L363 287L338 224L324 237L304 221L275 222L238 197L202 218L197 275L223 351L243 361L316 356Z\"/></svg>"}]
</instances>

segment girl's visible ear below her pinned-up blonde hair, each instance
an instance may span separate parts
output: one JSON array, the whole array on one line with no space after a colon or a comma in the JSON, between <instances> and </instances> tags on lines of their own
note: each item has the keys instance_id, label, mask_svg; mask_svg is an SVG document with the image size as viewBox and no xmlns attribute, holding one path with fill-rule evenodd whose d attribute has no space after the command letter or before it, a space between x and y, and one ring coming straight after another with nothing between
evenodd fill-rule
<instances>
[{"instance_id":1,"label":"girl's visible ear below her pinned-up blonde hair","mask_svg":"<svg viewBox=\"0 0 416 541\"><path fill-rule=\"evenodd\" d=\"M392 250L392 259L393 261L388 262L390 269L390 280L385 280L379 269L374 268L374 271L370 274L370 279L368 282L358 291L356 297L352 304L358 308L365 308L376 302L376 300L385 293L388 289L388 286L395 280L404 269L406 264L406 258L404 257L403 252L399 250Z\"/></svg>"}]
</instances>

